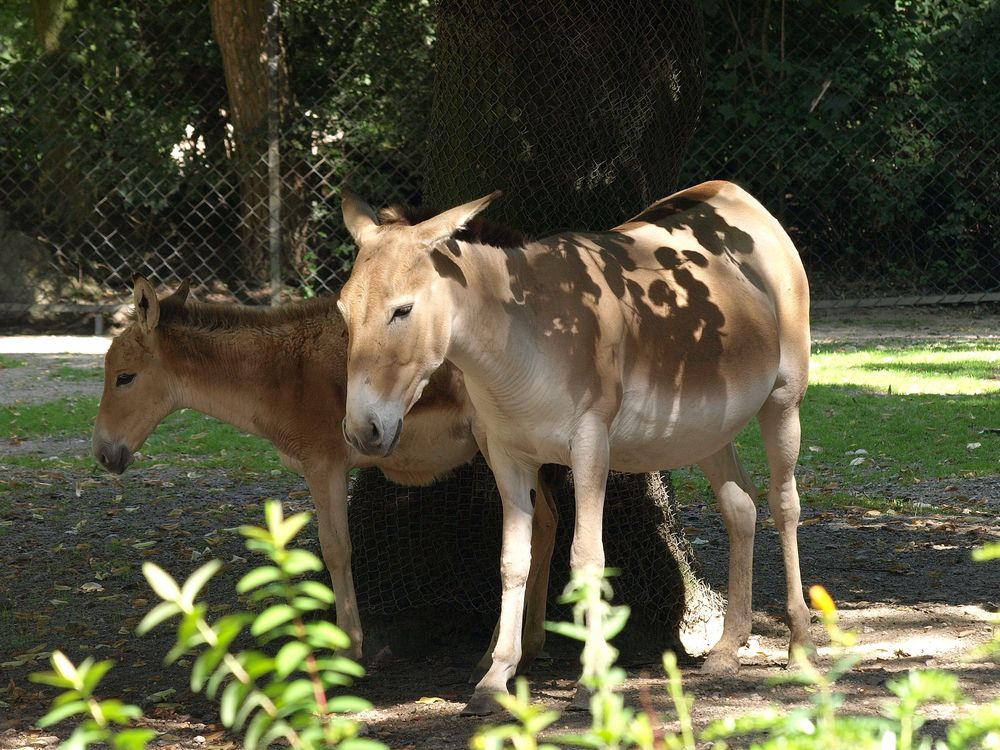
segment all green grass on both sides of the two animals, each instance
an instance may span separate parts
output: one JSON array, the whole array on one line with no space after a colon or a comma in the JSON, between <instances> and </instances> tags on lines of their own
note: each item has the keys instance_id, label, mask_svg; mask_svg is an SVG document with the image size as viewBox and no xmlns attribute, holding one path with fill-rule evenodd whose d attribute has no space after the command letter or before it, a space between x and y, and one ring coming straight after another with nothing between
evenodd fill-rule
<instances>
[{"instance_id":1,"label":"all green grass on both sides of the two animals","mask_svg":"<svg viewBox=\"0 0 1000 750\"><path fill-rule=\"evenodd\" d=\"M1000 343L902 342L816 347L802 405L799 485L814 505L892 507L900 488L1000 474ZM79 397L0 407L0 439L89 436L97 399ZM984 432L985 430L985 432ZM975 446L979 443L979 447ZM744 463L766 487L760 430L736 440ZM858 453L857 451L864 451ZM143 463L190 463L266 472L281 468L271 445L216 419L184 410L163 421L141 449ZM93 459L60 457L88 468ZM51 466L15 456L8 464ZM697 470L674 473L681 498L710 497Z\"/></svg>"}]
</instances>

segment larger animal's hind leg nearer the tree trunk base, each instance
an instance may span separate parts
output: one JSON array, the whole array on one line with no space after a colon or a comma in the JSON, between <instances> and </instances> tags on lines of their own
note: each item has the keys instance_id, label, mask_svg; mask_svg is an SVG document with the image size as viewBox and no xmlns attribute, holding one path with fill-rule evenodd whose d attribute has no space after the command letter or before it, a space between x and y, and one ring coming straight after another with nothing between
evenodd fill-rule
<instances>
[{"instance_id":1,"label":"larger animal's hind leg nearer the tree trunk base","mask_svg":"<svg viewBox=\"0 0 1000 750\"><path fill-rule=\"evenodd\" d=\"M702 665L707 674L739 671L737 650L750 637L753 600L753 538L757 489L750 481L732 443L699 463L719 501L719 511L729 534L729 593L722 637Z\"/></svg>"}]
</instances>

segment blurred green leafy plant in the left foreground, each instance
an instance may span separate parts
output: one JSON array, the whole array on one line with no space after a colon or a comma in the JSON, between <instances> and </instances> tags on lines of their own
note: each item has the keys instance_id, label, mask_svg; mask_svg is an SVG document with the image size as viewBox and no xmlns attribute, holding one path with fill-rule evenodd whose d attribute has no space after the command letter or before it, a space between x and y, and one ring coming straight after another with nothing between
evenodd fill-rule
<instances>
[{"instance_id":1,"label":"blurred green leafy plant in the left foreground","mask_svg":"<svg viewBox=\"0 0 1000 750\"><path fill-rule=\"evenodd\" d=\"M356 662L332 653L350 645L347 635L325 620L305 620L308 613L325 610L334 601L328 586L299 580L305 573L322 570L322 561L311 552L288 547L309 522L309 515L285 518L280 503L271 501L265 506L265 519L263 528L244 526L240 531L247 547L269 563L254 568L237 584L238 592L249 594L263 607L261 612L237 612L214 623L207 619L208 608L198 595L222 566L218 560L201 566L181 584L146 562L143 574L162 601L146 614L137 632L141 635L179 619L177 639L166 661L194 657L191 689L218 700L222 723L242 733L247 750L284 742L303 750L383 748L359 737L357 722L340 715L370 707L367 701L337 692L364 674ZM233 651L234 642L247 630L259 646L268 648ZM140 717L141 711L120 701L93 698L111 662L95 664L88 659L74 667L55 652L52 663L54 672L33 676L65 690L44 724L80 714L89 717L64 750L83 750L98 742L116 750L141 750L155 736L151 730L112 729L111 724L127 724Z\"/></svg>"}]
</instances>

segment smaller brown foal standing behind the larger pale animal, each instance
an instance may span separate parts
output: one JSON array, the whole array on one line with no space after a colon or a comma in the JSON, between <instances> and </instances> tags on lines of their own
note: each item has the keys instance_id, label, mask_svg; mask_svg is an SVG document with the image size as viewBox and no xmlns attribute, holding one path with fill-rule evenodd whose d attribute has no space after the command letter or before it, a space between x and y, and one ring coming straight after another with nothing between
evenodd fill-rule
<instances>
[{"instance_id":1,"label":"smaller brown foal standing behind the larger pale animal","mask_svg":"<svg viewBox=\"0 0 1000 750\"><path fill-rule=\"evenodd\" d=\"M414 405L406 431L395 435L392 455L362 455L345 443L342 432L347 331L336 297L254 308L193 302L187 295L184 282L157 299L152 284L136 276L134 321L112 341L104 361L94 455L121 474L156 426L183 408L271 441L285 465L309 485L337 594L337 623L351 638L347 654L359 658L363 636L351 575L347 473L374 466L395 482L428 484L472 459L473 411L462 376L451 365L439 368ZM555 505L548 490L543 497L533 539L539 560L529 585L525 662L545 640ZM489 655L480 660L480 670L489 668Z\"/></svg>"}]
</instances>

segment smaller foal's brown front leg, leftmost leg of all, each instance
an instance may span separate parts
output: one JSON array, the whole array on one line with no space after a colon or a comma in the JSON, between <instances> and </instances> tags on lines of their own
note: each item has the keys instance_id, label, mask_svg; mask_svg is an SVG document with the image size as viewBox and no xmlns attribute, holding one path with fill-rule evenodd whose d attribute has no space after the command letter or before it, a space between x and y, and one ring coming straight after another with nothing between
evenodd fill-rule
<instances>
[{"instance_id":1,"label":"smaller foal's brown front leg, leftmost leg of all","mask_svg":"<svg viewBox=\"0 0 1000 750\"><path fill-rule=\"evenodd\" d=\"M361 659L364 634L358 599L351 573L351 535L347 526L347 467L341 465L308 467L306 482L316 504L319 545L337 595L337 626L351 639L343 654Z\"/></svg>"}]
</instances>

